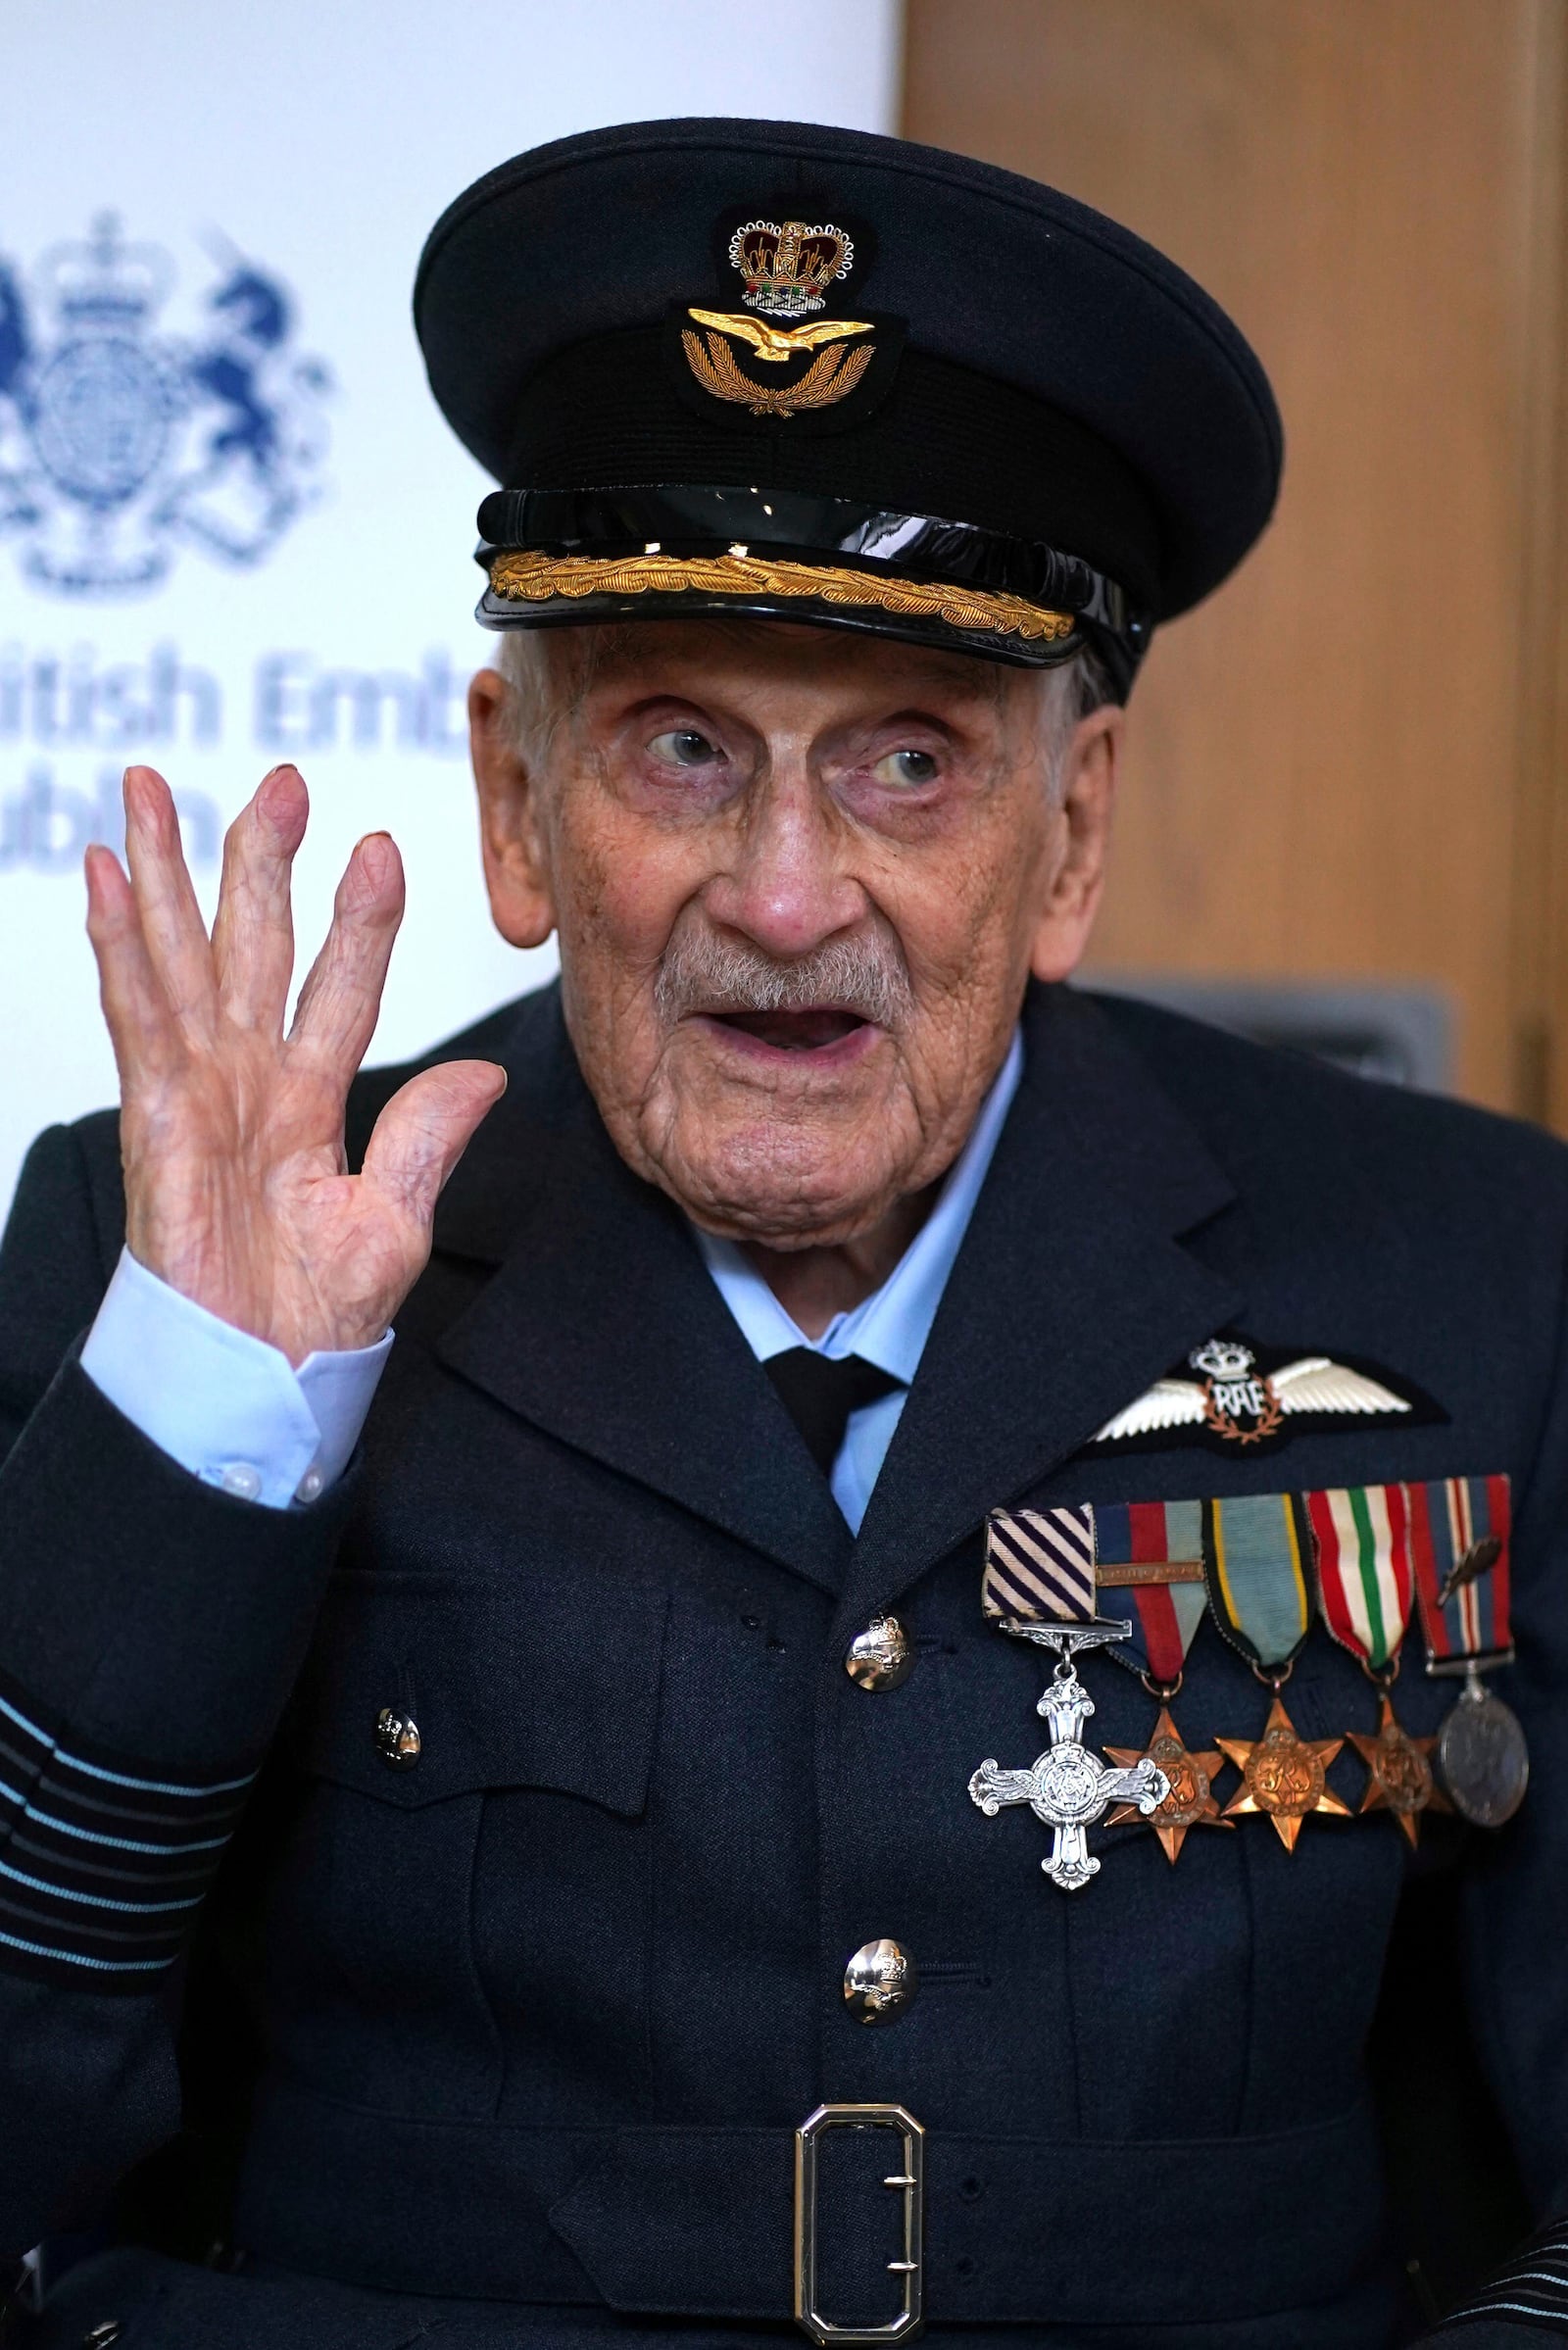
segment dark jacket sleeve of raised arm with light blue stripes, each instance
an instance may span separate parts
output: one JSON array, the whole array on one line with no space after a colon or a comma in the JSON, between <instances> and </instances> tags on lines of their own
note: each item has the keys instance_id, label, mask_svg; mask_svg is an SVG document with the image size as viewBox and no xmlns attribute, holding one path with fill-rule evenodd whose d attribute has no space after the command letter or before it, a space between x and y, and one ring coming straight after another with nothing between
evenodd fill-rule
<instances>
[{"instance_id":1,"label":"dark jacket sleeve of raised arm with light blue stripes","mask_svg":"<svg viewBox=\"0 0 1568 2350\"><path fill-rule=\"evenodd\" d=\"M0 2261L89 2225L179 2127L181 1950L353 1483L313 1509L235 1499L87 1379L120 1248L108 1168L103 1130L52 1128L0 1243Z\"/></svg>"}]
</instances>

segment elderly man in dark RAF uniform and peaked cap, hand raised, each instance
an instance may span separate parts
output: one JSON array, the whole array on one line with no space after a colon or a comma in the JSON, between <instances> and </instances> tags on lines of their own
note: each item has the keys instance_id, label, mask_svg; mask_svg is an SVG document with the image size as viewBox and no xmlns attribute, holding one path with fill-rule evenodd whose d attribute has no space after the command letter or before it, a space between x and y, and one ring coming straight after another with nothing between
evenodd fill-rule
<instances>
[{"instance_id":1,"label":"elderly man in dark RAF uniform and peaked cap, hand raised","mask_svg":"<svg viewBox=\"0 0 1568 2350\"><path fill-rule=\"evenodd\" d=\"M89 855L120 1121L0 1267L19 2338L1408 2341L1568 2202L1568 1163L1063 985L1258 362L773 122L494 172L416 317L562 978L357 1074L386 834L292 1022L294 768L212 935L150 771Z\"/></svg>"}]
</instances>

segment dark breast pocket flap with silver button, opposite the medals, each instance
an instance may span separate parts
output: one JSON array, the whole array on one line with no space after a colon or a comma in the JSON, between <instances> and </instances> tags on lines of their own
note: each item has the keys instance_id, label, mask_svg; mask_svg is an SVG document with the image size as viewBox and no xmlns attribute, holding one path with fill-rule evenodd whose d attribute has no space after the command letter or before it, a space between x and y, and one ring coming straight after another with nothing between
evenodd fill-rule
<instances>
[{"instance_id":1,"label":"dark breast pocket flap with silver button, opposite the medals","mask_svg":"<svg viewBox=\"0 0 1568 2350\"><path fill-rule=\"evenodd\" d=\"M668 1591L339 1570L294 1704L296 1760L414 1810L480 1788L646 1805ZM388 1762L381 1713L414 1720Z\"/></svg>"}]
</instances>

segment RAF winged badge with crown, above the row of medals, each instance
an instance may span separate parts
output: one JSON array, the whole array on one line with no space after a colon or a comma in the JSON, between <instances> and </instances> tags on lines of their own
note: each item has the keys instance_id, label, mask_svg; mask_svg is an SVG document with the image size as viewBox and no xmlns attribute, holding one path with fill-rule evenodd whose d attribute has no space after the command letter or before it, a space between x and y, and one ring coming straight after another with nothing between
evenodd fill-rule
<instances>
[{"instance_id":1,"label":"RAF winged badge with crown, above the row of medals","mask_svg":"<svg viewBox=\"0 0 1568 2350\"><path fill-rule=\"evenodd\" d=\"M1088 1443L1135 1450L1204 1443L1232 1452L1279 1445L1345 1419L1422 1426L1443 1417L1418 1386L1373 1363L1211 1337Z\"/></svg>"}]
</instances>

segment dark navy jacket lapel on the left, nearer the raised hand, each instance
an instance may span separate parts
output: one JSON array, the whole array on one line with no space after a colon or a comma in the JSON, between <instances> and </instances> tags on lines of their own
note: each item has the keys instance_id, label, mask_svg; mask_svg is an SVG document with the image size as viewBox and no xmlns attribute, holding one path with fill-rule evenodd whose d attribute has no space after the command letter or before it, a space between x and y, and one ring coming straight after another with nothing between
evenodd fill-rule
<instances>
[{"instance_id":1,"label":"dark navy jacket lapel on the left, nearer the raised hand","mask_svg":"<svg viewBox=\"0 0 1568 2350\"><path fill-rule=\"evenodd\" d=\"M809 1577L851 1535L684 1217L618 1159L555 992L524 1003L508 1093L447 1187L435 1241L496 1264L442 1335L534 1426Z\"/></svg>"}]
</instances>

